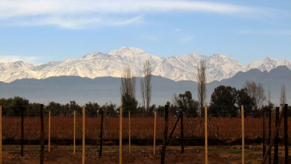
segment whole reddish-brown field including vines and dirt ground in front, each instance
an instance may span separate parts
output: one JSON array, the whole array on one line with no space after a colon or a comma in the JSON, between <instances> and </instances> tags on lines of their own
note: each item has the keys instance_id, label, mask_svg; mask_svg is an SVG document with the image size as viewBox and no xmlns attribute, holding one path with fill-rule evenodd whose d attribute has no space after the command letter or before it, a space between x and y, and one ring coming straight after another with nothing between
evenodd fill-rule
<instances>
[{"instance_id":1,"label":"whole reddish-brown field including vines and dirt ground in front","mask_svg":"<svg viewBox=\"0 0 291 164\"><path fill-rule=\"evenodd\" d=\"M176 117L169 118L170 134ZM262 118L245 118L245 162L257 164L262 160ZM275 118L272 118L272 132L275 130ZM161 160L164 118L157 118L157 147L153 155L153 117L133 117L131 122L131 154L129 154L129 119L123 118L123 163L157 164ZM266 120L268 123L268 119ZM289 120L288 124L291 124ZM283 124L279 138L283 137ZM48 152L48 117L45 118L45 163L72 164L81 162L82 120L76 119L76 155L73 154L73 118L51 118L51 151ZM98 157L100 118L85 119L85 159L86 163L118 163L119 118L105 117L103 155ZM267 126L268 127L268 126ZM268 134L268 131L267 133ZM291 136L291 129L289 128ZM30 163L38 164L40 160L40 119L39 117L24 118L24 156L20 156L21 118L2 117L3 162L7 164ZM241 118L209 118L208 119L208 156L209 163L241 163ZM204 148L204 119L184 118L185 152L180 153L180 122L173 133L166 149L166 164L203 164ZM279 144L279 160L283 162L284 147ZM274 148L273 148L274 149ZM273 156L272 156L273 159Z\"/></svg>"}]
</instances>

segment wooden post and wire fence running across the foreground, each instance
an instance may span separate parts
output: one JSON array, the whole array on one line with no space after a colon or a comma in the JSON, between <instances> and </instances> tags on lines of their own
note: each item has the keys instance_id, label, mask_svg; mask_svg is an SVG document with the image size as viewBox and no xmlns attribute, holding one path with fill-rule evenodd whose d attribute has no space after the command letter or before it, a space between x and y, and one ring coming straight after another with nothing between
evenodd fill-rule
<instances>
[{"instance_id":1,"label":"wooden post and wire fence running across the foreground","mask_svg":"<svg viewBox=\"0 0 291 164\"><path fill-rule=\"evenodd\" d=\"M166 106L165 106L165 108L166 108ZM1 106L0 106L0 116L2 116L2 110L1 110L2 108L1 108ZM40 117L40 119L41 119L41 163L43 163L43 149L44 149L44 147L43 147L43 143L44 143L44 132L43 132L43 129L44 129L44 124L46 124L46 123L44 123L44 110L43 110L44 108L43 108L43 105L41 106L41 117ZM168 109L168 108L167 108ZM128 122L129 122L129 124L128 124L128 128L129 128L129 130L127 131L127 130L123 130L123 128L126 128L126 126L125 127L123 127L123 123L124 124L126 124L127 122L125 121L125 122L123 122L123 108L122 107L120 107L119 108L119 163L121 164L122 163L122 139L128 139L128 141L129 141L129 154L131 154L131 131L132 132L136 132L136 131L143 131L143 132L152 132L152 130L144 130L144 129L141 129L141 130L131 130L131 127L133 127L133 126L136 126L136 125L138 125L138 124L142 124L142 123L149 123L149 121L139 121L139 122L134 122L134 120L133 120L133 122L131 122L131 114L130 114L130 111L129 111L129 113L128 113L128 116L125 116L125 118L126 117L128 117L127 119L125 119L125 120L128 120ZM102 111L103 112L103 111ZM102 154L102 134L103 134L103 115L102 115L102 112L101 112L101 126L100 126L100 153ZM282 111L283 112L283 111ZM98 137L87 137L87 138L85 138L85 132L91 132L91 131L93 131L93 132L96 132L96 130L86 130L85 131L85 116L87 116L86 114L86 111L85 111L85 106L83 106L82 107L82 119L81 119L81 123L82 123L82 129L81 129L81 131L82 131L82 163L84 164L85 163L85 139L98 139ZM277 112L276 112L277 113ZM286 110L284 110L284 125L286 124L286 123L288 123L287 122L287 119L288 119L288 117L287 118L285 118L285 115L287 114L287 108L286 108ZM73 113L73 119L74 119L74 154L76 154L76 110L74 110L74 113ZM165 115L168 115L168 114L166 114L165 113ZM183 115L183 113L182 112L180 112L180 116L182 116ZM244 129L244 106L242 105L241 106L241 123L242 123L242 164L244 164L244 161L245 161L245 139L246 138L252 138L252 137L245 137L245 131L247 132L248 130L254 130L254 128L250 128L250 129ZM282 115L282 114L281 114ZM287 116L287 115L286 115ZM168 117L168 116L167 116ZM185 117L186 118L186 124L187 123L189 123L189 122L198 122L198 120L195 120L195 121L191 121L191 120L187 120L187 117ZM264 113L264 118L265 118L265 113ZM265 119L263 118L263 132L265 132L264 130L265 130ZM86 119L89 119L90 120L90 118L86 118ZM178 119L178 117L177 118L175 118L175 117L172 117L171 118L172 120L175 120L175 119ZM184 132L187 132L188 130L184 130L183 129L183 126L184 126L184 124L183 124L183 121L182 121L182 119L181 119L181 125L180 125L180 138L179 138L179 141L181 141L181 151L182 151L182 149L184 148L183 147L183 140L184 139L205 139L205 163L206 164L208 164L208 163L211 163L211 162L209 162L208 161L208 155L209 155L209 153L208 153L208 139L214 139L214 138L227 138L227 137L213 137L213 134L211 135L211 132L215 132L215 128L213 128L213 126L211 125L211 119L212 118L210 118L209 117L209 114L208 114L208 107L207 106L205 106L205 116L204 116L204 133L205 133L205 136L204 137L184 137L182 134L184 133ZM98 119L97 119L98 120ZM166 123L168 123L168 120L169 120L169 118L167 118L167 119L165 119L165 124ZM203 119L202 119L203 120ZM276 120L277 120L277 117L276 117ZM51 123L54 123L54 121L52 121L51 120L51 110L49 110L49 113L48 113L48 151L50 151L50 143L51 143L51 139L58 139L57 137L51 137ZM217 119L217 124L218 124L218 121L219 121L219 119ZM254 123L255 121L258 121L258 122L261 122L261 119L251 119L251 121ZM278 120L277 120L278 121ZM161 120L160 120L160 122L162 122ZM221 121L221 122L231 122L231 121ZM233 121L232 121L233 122ZM62 122L63 123L63 122ZM65 122L64 122L65 123ZM71 121L70 122L66 122L67 124L71 124ZM106 122L106 124L110 124L111 122ZM212 122L213 123L213 122ZM0 135L0 137L1 137L1 141L2 141L2 117L0 117L0 132L1 132L1 135ZM87 125L98 125L98 123L87 123ZM118 123L114 123L114 124L118 124ZM154 151L154 154L156 153L156 124L157 124L157 111L155 111L154 112L154 136L153 136L153 140L154 140L154 142L153 142L153 151ZM214 124L215 124L215 122L214 122ZM277 125L277 123L276 123L276 125ZM288 124L286 124L286 126L287 126ZM23 126L23 123L21 123L21 126ZM90 127L91 128L91 127ZM165 126L165 128L166 128L166 126ZM22 128L21 128L22 129ZM55 127L53 126L53 129L55 129ZM260 128L258 128L258 129L260 129ZM271 128L272 129L272 128ZM271 131L271 129L269 129L269 132ZM275 127L275 130L276 131L278 131L277 130L277 126ZM9 130L7 130L6 132L8 132ZM52 130L52 131L54 131L54 130ZM69 131L69 130L68 130ZM105 132L117 132L118 130L108 130L108 129L105 129ZM124 133L128 133L129 134L129 136L128 136L128 138L127 137L122 137L122 131L124 131ZM218 130L217 130L218 131ZM223 130L220 130L219 132L221 132L221 131L237 131L237 130L226 130L226 129L223 129ZM32 130L32 132L33 132L33 130ZM35 132L37 132L37 130L35 130ZM39 132L39 131L38 131ZM65 131L66 132L66 131ZM158 132L162 132L162 130L158 130ZM209 133L210 132L210 133ZM165 129L164 129L164 133L165 133ZM286 133L288 133L288 129L287 129L287 127L285 128L285 126L284 126L284 140L285 140L285 144L286 144L286 140L287 140L287 142L288 142L288 134L287 134L287 137L286 137ZM172 133L171 133L172 134ZM178 134L178 133L177 133ZM265 133L263 133L263 134L265 134ZM71 134L70 134L71 135ZM152 136L152 134L149 134L149 136ZM188 135L189 136L189 135ZM209 137L210 136L210 137ZM9 137L6 137L6 138L9 138ZM13 137L11 137L11 138L13 138ZM23 138L23 137L22 137ZM29 137L26 137L26 139L28 139ZM64 138L65 139L65 137L62 137L62 138ZM231 137L229 137L229 138L231 138ZM275 135L275 141L277 141L277 138L279 138L279 133L277 133L276 135ZM282 137L283 138L283 137ZM69 139L69 138L68 138ZM117 138L110 138L110 137L107 137L106 139L117 139ZM143 139L152 139L152 137L146 137L146 138L143 138ZM163 141L165 140L166 141L166 144L165 144L165 147L166 147L166 145L167 145L167 143L169 142L169 139L172 139L172 140L177 140L176 138L171 138L171 137L169 137L169 138L167 138L167 134L166 134L166 136L164 135L164 138L163 138ZM96 141L94 141L94 140L92 140L92 141L89 141L88 143L95 143ZM87 142L86 142L87 143ZM23 142L22 142L22 144L23 144ZM2 149L2 143L0 142L0 149ZM276 162L278 162L279 161L279 159L277 158L277 155L278 155L278 153L277 153L277 149L278 149L278 144L276 144L275 143L275 148L276 148L276 150L275 150L275 153L274 153L274 155L276 156L275 157L275 159L274 159L274 161L276 161ZM165 147L163 146L163 148L162 148L162 153L164 153L165 154ZM263 153L265 153L265 151L263 150ZM286 154L288 154L288 145L287 145L287 151L286 151L286 146L285 146L285 153ZM210 154L212 155L212 154L215 154L215 153L211 153L210 152ZM269 154L269 152L266 152L266 154ZM265 154L265 155L266 155ZM286 154L285 154L285 156L286 156ZM0 152L0 157L1 157L1 152ZM109 154L106 154L106 155L109 155ZM135 155L135 154L133 154L133 155ZM101 156L100 156L101 157ZM264 156L264 158L265 158L265 156ZM288 159L287 159L288 160ZM285 159L285 161L287 161L286 159ZM211 160L210 160L211 161ZM161 159L161 163L162 163L162 159Z\"/></svg>"}]
</instances>

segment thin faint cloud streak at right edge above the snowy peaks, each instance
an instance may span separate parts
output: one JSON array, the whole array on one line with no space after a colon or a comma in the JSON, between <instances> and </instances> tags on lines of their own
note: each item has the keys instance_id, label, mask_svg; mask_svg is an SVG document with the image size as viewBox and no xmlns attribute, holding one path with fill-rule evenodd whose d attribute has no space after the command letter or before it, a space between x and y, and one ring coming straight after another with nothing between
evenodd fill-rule
<instances>
[{"instance_id":1,"label":"thin faint cloud streak at right edge above the snowy peaks","mask_svg":"<svg viewBox=\"0 0 291 164\"><path fill-rule=\"evenodd\" d=\"M291 30L240 30L241 34L291 35Z\"/></svg>"}]
</instances>

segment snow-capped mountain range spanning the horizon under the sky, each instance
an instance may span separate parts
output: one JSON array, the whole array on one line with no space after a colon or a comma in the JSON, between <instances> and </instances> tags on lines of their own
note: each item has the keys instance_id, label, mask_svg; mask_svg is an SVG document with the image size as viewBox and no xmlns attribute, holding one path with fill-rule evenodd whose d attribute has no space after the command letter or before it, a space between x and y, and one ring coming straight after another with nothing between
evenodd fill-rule
<instances>
[{"instance_id":1,"label":"snow-capped mountain range spanning the horizon under the sky","mask_svg":"<svg viewBox=\"0 0 291 164\"><path fill-rule=\"evenodd\" d=\"M260 71L286 65L291 69L291 61L265 58L244 65L224 55L206 57L194 53L179 57L160 58L134 47L121 47L108 53L94 52L78 59L52 61L46 64L29 64L24 61L0 63L0 81L12 82L22 78L44 79L51 76L76 75L81 77L121 77L124 68L129 67L135 76L141 77L143 64L149 60L152 74L175 81L196 81L197 66L201 59L206 60L207 82L230 78L237 72L253 68Z\"/></svg>"}]
</instances>

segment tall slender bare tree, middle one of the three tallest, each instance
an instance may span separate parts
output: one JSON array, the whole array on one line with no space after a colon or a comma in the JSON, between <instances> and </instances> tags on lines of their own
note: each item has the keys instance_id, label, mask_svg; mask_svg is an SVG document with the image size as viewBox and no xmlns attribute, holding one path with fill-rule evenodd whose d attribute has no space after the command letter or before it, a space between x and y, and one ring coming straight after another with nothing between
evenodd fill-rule
<instances>
[{"instance_id":1,"label":"tall slender bare tree, middle one of the three tallest","mask_svg":"<svg viewBox=\"0 0 291 164\"><path fill-rule=\"evenodd\" d=\"M149 113L149 104L151 101L151 65L149 60L146 60L144 63L144 78L141 79L141 94L144 103L144 107L146 108L147 114Z\"/></svg>"}]
</instances>

